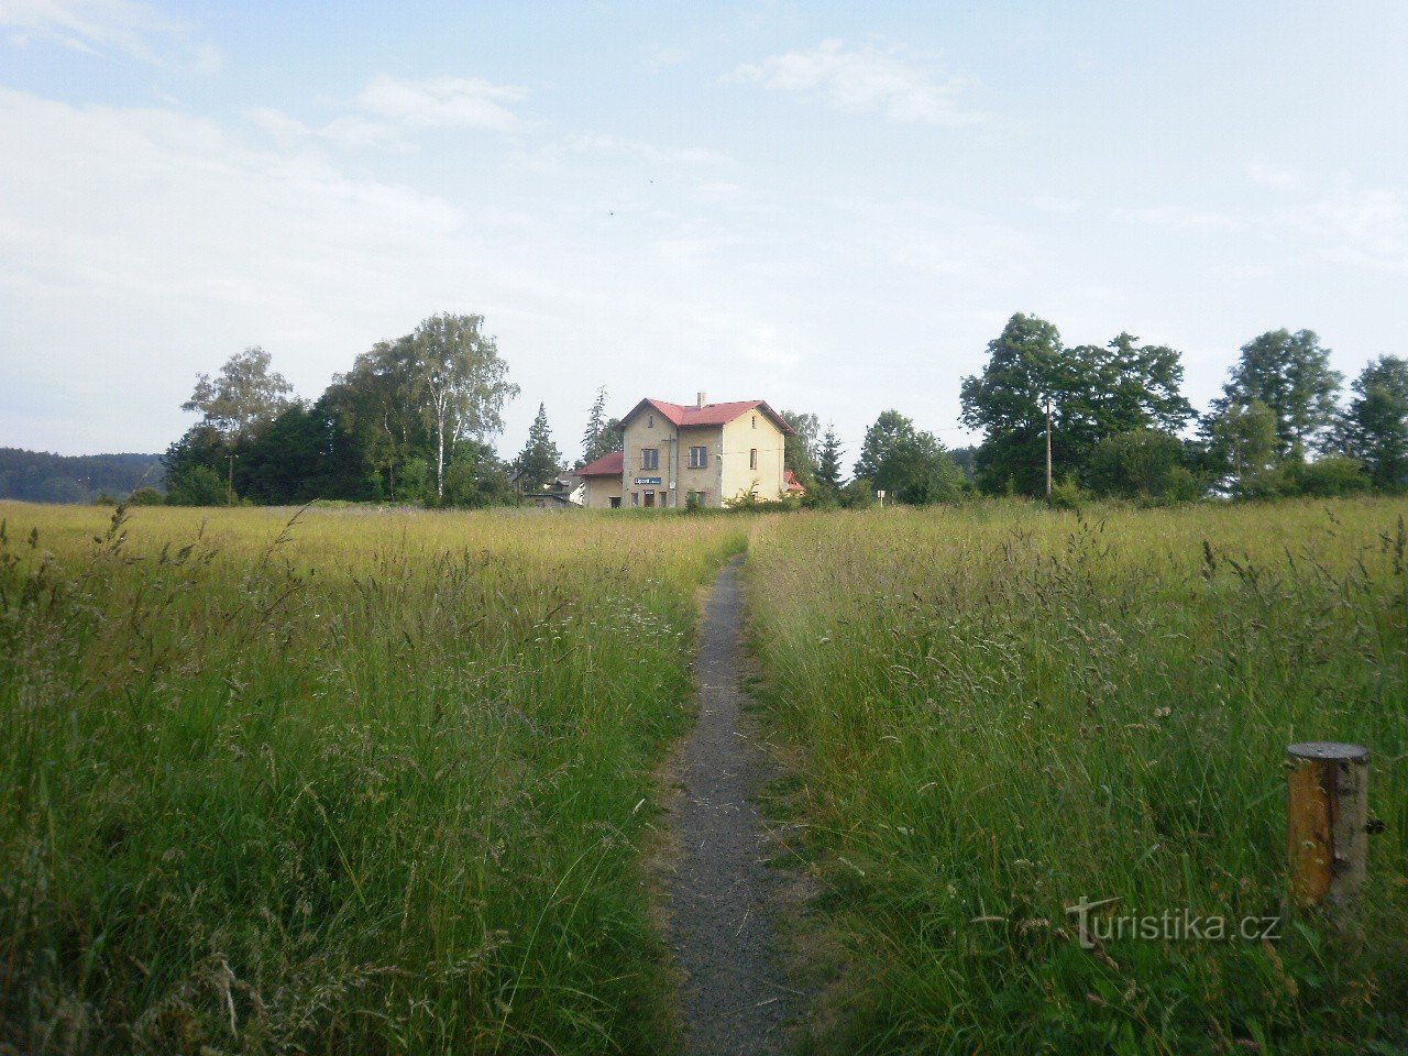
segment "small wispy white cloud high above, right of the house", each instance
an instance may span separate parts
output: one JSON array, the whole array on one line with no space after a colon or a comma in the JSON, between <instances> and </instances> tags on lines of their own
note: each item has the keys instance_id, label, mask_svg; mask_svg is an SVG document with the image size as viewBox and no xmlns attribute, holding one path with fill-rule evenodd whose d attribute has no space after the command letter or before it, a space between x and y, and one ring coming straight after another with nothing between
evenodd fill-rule
<instances>
[{"instance_id":1,"label":"small wispy white cloud high above, right of the house","mask_svg":"<svg viewBox=\"0 0 1408 1056\"><path fill-rule=\"evenodd\" d=\"M900 124L955 128L981 120L959 104L956 80L942 80L936 69L901 48L846 51L842 41L824 41L811 51L738 66L728 80L819 97L836 110L880 113Z\"/></svg>"}]
</instances>

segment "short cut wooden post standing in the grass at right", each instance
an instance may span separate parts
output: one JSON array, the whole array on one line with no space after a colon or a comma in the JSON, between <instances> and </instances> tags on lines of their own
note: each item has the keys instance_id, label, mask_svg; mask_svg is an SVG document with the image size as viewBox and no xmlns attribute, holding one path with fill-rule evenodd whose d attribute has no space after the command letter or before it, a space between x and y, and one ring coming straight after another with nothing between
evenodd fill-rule
<instances>
[{"instance_id":1,"label":"short cut wooden post standing in the grass at right","mask_svg":"<svg viewBox=\"0 0 1408 1056\"><path fill-rule=\"evenodd\" d=\"M1287 755L1291 893L1302 905L1346 907L1369 860L1369 749L1312 741Z\"/></svg>"}]
</instances>

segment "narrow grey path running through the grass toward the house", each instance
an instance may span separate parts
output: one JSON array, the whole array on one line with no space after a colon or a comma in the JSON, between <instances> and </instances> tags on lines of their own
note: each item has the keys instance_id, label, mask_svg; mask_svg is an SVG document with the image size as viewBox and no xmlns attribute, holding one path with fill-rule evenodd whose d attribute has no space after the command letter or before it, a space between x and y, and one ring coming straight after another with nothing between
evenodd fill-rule
<instances>
[{"instance_id":1,"label":"narrow grey path running through the grass toward the house","mask_svg":"<svg viewBox=\"0 0 1408 1056\"><path fill-rule=\"evenodd\" d=\"M690 1056L781 1052L794 991L780 966L777 883L755 800L766 752L742 705L743 596L735 558L719 573L700 631L698 724L681 758L674 818L679 855L669 880L669 938L684 973Z\"/></svg>"}]
</instances>

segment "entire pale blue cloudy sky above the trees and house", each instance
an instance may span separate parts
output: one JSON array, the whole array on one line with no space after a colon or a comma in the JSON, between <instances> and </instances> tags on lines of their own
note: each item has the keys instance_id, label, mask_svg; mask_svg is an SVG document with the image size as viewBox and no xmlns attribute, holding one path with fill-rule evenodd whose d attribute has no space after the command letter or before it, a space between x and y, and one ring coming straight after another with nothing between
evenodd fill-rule
<instances>
[{"instance_id":1,"label":"entire pale blue cloudy sky above the trees and house","mask_svg":"<svg viewBox=\"0 0 1408 1056\"><path fill-rule=\"evenodd\" d=\"M563 453L598 386L950 446L1017 311L1217 394L1408 353L1408 4L0 0L0 446L163 451L476 313Z\"/></svg>"}]
</instances>

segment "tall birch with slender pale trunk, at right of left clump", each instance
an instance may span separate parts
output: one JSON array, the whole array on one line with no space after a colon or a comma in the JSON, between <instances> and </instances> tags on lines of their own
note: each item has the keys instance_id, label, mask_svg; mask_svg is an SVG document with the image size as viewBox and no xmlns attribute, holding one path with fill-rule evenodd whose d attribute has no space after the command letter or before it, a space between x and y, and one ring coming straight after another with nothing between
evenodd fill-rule
<instances>
[{"instance_id":1,"label":"tall birch with slender pale trunk, at right of left clump","mask_svg":"<svg viewBox=\"0 0 1408 1056\"><path fill-rule=\"evenodd\" d=\"M431 315L411 341L421 401L435 441L435 497L445 497L445 456L462 439L484 441L504 428L504 404L518 394L483 315Z\"/></svg>"}]
</instances>

